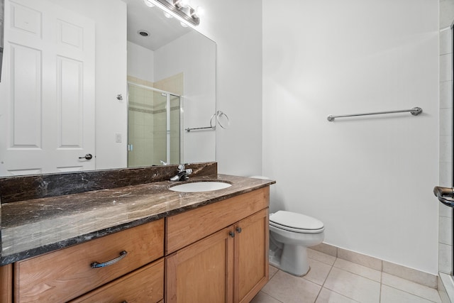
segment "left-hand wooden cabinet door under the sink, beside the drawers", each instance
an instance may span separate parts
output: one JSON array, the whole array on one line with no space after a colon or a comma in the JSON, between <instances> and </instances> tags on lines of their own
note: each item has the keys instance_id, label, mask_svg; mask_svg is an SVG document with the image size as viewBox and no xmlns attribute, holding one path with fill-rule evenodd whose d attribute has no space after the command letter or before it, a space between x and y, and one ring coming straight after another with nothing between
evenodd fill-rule
<instances>
[{"instance_id":1,"label":"left-hand wooden cabinet door under the sink, beside the drawers","mask_svg":"<svg viewBox=\"0 0 454 303\"><path fill-rule=\"evenodd\" d=\"M233 302L233 226L166 258L165 302Z\"/></svg>"}]
</instances>

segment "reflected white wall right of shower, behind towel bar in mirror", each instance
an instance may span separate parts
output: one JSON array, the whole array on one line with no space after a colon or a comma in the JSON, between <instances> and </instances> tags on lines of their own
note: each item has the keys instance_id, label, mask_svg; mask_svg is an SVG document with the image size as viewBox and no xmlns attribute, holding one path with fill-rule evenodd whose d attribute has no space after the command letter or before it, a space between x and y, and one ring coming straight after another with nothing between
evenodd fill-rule
<instances>
[{"instance_id":1,"label":"reflected white wall right of shower, behind towel bar in mirror","mask_svg":"<svg viewBox=\"0 0 454 303\"><path fill-rule=\"evenodd\" d=\"M183 128L209 126L216 111L216 44L190 32L155 50L155 81L183 72ZM216 160L214 131L183 132L183 162Z\"/></svg>"}]
</instances>

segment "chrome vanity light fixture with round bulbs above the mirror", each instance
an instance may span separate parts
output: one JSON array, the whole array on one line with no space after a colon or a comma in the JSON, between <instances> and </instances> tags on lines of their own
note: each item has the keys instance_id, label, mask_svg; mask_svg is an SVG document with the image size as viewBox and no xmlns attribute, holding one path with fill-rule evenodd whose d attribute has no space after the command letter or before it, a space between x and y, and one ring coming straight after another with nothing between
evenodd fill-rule
<instances>
[{"instance_id":1,"label":"chrome vanity light fixture with round bulbs above the mirror","mask_svg":"<svg viewBox=\"0 0 454 303\"><path fill-rule=\"evenodd\" d=\"M199 7L194 9L189 5L189 0L143 0L145 4L150 2L165 9L168 13L179 17L180 20L190 23L193 26L198 26L200 23ZM147 4L148 5L148 4ZM167 17L168 18L168 17Z\"/></svg>"}]
</instances>

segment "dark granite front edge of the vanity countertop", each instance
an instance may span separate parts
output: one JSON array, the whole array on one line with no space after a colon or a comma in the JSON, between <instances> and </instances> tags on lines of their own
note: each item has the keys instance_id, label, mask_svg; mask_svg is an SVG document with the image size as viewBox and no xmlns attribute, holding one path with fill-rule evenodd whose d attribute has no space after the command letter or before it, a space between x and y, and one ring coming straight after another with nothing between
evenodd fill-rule
<instances>
[{"instance_id":1,"label":"dark granite front edge of the vanity countertop","mask_svg":"<svg viewBox=\"0 0 454 303\"><path fill-rule=\"evenodd\" d=\"M52 243L52 244L48 244L48 245L45 245L45 246L40 246L38 248L34 248L34 249L31 249L31 250L25 250L25 251L23 251L21 253L15 253L15 254L12 254L12 255L5 255L5 256L2 255L0 257L0 266L8 265L10 263L14 263L14 262L17 262L17 261L20 261L20 260L24 260L26 258L31 258L31 257L35 257L35 256L38 256L38 255L42 255L44 253L50 253L50 252L55 251L55 250L59 250L59 249L62 249L62 248L67 248L67 247L70 247L70 246L74 246L74 245L77 245L77 244L80 244L80 243L84 243L84 242L87 242L87 241L90 241L90 240L94 240L96 238L101 238L103 236L108 236L108 235L110 235L112 233L116 233L118 231L124 231L124 230L126 230L128 228L132 228L132 227L139 226L139 225L142 225L142 224L147 224L147 223L150 223L150 222L165 218L167 216L172 216L172 215L175 215L175 214L180 214L180 213L182 213L184 211L189 211L191 209L196 209L199 206L205 206L205 205L213 204L215 202L220 202L220 201L223 201L225 199L236 197L236 196L238 196L240 194L253 192L256 189L260 189L260 188L263 188L263 187L268 187L271 184L275 184L275 181L270 181L270 182L267 182L267 183L264 183L264 184L258 184L258 185L255 185L253 187L249 187L248 189L242 189L242 190L239 190L238 192L225 194L223 196L216 197L214 199L207 199L207 200L205 200L203 202L199 202L199 203L192 204L192 205L189 205L189 206L182 206L182 207L180 207L178 209L172 209L171 211L165 211L165 212L162 212L160 214L153 214L151 216L146 216L146 217L144 217L142 219L136 219L136 220L130 221L130 222L126 223L126 224L120 224L120 225L117 225L117 226L104 228L104 229L102 229L100 231L94 231L93 233L86 233L84 235L77 236L77 237L74 237L74 238L68 238L68 239L66 239L64 241L60 241L60 242L57 242L57 243Z\"/></svg>"}]
</instances>

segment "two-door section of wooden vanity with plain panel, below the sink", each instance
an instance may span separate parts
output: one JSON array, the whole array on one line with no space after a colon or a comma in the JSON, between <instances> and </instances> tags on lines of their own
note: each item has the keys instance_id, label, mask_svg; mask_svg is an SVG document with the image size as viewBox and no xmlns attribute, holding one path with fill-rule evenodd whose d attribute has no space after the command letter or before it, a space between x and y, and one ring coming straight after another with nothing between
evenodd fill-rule
<instances>
[{"instance_id":1,"label":"two-door section of wooden vanity with plain panel, below the sink","mask_svg":"<svg viewBox=\"0 0 454 303\"><path fill-rule=\"evenodd\" d=\"M167 218L172 302L250 302L268 280L269 187Z\"/></svg>"}]
</instances>

